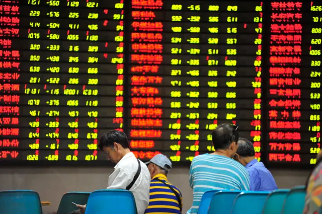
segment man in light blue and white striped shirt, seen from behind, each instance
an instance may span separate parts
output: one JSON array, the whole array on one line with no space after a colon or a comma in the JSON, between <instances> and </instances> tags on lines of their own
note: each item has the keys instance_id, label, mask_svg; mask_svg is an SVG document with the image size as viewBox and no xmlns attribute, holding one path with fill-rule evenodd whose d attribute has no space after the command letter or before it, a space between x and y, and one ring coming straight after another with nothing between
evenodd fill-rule
<instances>
[{"instance_id":1,"label":"man in light blue and white striped shirt, seen from behind","mask_svg":"<svg viewBox=\"0 0 322 214\"><path fill-rule=\"evenodd\" d=\"M206 191L250 189L250 176L246 168L232 159L238 148L237 128L226 123L219 125L212 131L215 152L193 159L189 172L193 202L187 214L198 213L201 197Z\"/></svg>"}]
</instances>

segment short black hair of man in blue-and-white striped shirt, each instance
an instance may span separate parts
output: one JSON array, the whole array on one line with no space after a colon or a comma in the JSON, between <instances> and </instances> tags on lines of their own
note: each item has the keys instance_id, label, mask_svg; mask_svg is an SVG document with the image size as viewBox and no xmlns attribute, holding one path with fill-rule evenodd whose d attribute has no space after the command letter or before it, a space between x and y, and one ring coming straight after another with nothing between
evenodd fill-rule
<instances>
[{"instance_id":1,"label":"short black hair of man in blue-and-white striped shirt","mask_svg":"<svg viewBox=\"0 0 322 214\"><path fill-rule=\"evenodd\" d=\"M226 150L233 142L233 135L235 132L234 126L228 123L219 125L212 131L212 145L215 150Z\"/></svg>"}]
</instances>

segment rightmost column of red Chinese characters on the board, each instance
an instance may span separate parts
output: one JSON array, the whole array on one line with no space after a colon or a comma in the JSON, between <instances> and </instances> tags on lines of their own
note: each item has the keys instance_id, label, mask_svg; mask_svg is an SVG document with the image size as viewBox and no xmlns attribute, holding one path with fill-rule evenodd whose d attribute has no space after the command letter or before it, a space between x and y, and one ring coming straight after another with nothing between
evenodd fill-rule
<instances>
[{"instance_id":1,"label":"rightmost column of red Chinese characters on the board","mask_svg":"<svg viewBox=\"0 0 322 214\"><path fill-rule=\"evenodd\" d=\"M300 151L302 62L302 3L271 2L271 36L269 69L268 137L269 161L299 162L300 155L285 154Z\"/></svg>"}]
</instances>

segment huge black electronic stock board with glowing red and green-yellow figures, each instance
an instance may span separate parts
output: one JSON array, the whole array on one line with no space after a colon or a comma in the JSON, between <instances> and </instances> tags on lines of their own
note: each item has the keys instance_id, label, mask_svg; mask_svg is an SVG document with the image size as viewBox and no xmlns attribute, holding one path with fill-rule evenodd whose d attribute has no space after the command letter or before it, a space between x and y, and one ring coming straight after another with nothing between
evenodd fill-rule
<instances>
[{"instance_id":1,"label":"huge black electronic stock board with glowing red and green-yellow figures","mask_svg":"<svg viewBox=\"0 0 322 214\"><path fill-rule=\"evenodd\" d=\"M106 164L111 129L189 163L224 122L268 166L315 164L321 3L0 3L0 164Z\"/></svg>"}]
</instances>

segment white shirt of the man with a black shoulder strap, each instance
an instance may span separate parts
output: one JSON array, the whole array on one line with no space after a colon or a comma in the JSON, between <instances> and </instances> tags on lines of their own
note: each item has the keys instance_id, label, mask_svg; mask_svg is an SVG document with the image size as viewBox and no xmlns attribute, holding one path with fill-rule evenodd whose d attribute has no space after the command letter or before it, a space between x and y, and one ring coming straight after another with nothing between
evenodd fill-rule
<instances>
[{"instance_id":1,"label":"white shirt of the man with a black shoulder strap","mask_svg":"<svg viewBox=\"0 0 322 214\"><path fill-rule=\"evenodd\" d=\"M141 173L130 191L134 195L137 213L143 214L149 204L151 176L146 165L141 164ZM137 159L133 153L126 154L114 167L114 172L110 175L107 189L126 189L133 181L137 172Z\"/></svg>"}]
</instances>

